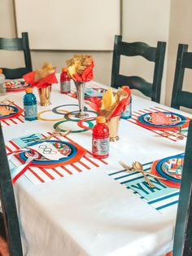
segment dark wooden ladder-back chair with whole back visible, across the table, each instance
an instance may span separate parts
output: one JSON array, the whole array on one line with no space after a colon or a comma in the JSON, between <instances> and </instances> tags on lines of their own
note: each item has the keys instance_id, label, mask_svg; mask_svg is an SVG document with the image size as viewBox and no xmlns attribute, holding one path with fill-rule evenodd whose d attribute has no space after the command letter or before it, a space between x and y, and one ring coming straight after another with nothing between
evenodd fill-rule
<instances>
[{"instance_id":1,"label":"dark wooden ladder-back chair with whole back visible, across the table","mask_svg":"<svg viewBox=\"0 0 192 256\"><path fill-rule=\"evenodd\" d=\"M151 47L144 42L122 42L122 36L115 36L112 60L111 86L129 86L131 89L140 90L144 95L155 102L160 100L161 80L164 69L164 55L166 42L158 42L156 47ZM140 55L146 60L155 63L153 82L146 82L142 77L128 77L120 74L120 55Z\"/></svg>"}]
</instances>

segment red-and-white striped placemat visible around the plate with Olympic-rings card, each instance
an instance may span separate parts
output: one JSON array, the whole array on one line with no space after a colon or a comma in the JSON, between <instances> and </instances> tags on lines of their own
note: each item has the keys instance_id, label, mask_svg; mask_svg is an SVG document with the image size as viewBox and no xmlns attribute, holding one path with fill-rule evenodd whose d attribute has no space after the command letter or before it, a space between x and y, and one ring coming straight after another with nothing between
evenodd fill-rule
<instances>
[{"instance_id":1,"label":"red-and-white striped placemat visible around the plate with Olympic-rings card","mask_svg":"<svg viewBox=\"0 0 192 256\"><path fill-rule=\"evenodd\" d=\"M50 133L47 132L46 134L43 134L43 137L49 136ZM67 136L65 138L63 137L55 137L55 139L73 142L72 139L69 139ZM7 154L14 152L15 150L18 150L20 147L12 140L10 140L7 145ZM11 162L15 166L20 166L21 162L18 157L12 157ZM108 163L107 161L98 160L95 159L91 152L87 152L84 157L81 158L80 161L77 161L71 165L66 166L58 166L54 168L40 168L40 167L28 167L28 170L25 171L24 175L34 184L40 184L49 182L51 180L55 179L61 179L64 177L67 177L72 174L79 174L85 170L91 170L94 168L98 168L100 166L106 166Z\"/></svg>"}]
</instances>

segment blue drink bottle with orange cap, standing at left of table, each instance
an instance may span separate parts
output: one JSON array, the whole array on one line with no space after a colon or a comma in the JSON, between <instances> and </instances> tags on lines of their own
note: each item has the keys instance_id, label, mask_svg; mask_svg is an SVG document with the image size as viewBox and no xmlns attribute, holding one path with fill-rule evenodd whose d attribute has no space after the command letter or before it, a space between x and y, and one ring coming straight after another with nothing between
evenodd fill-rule
<instances>
[{"instance_id":1,"label":"blue drink bottle with orange cap, standing at left of table","mask_svg":"<svg viewBox=\"0 0 192 256\"><path fill-rule=\"evenodd\" d=\"M37 99L33 95L33 88L26 88L24 95L24 119L28 121L37 120Z\"/></svg>"}]
</instances>

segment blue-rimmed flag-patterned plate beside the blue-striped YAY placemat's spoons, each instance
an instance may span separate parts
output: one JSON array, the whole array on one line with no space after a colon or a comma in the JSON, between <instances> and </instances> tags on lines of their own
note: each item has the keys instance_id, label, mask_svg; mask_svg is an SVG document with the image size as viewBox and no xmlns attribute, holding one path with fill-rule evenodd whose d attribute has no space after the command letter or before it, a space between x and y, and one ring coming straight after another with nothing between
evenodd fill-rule
<instances>
[{"instance_id":1,"label":"blue-rimmed flag-patterned plate beside the blue-striped YAY placemat's spoons","mask_svg":"<svg viewBox=\"0 0 192 256\"><path fill-rule=\"evenodd\" d=\"M166 157L156 165L156 171L165 179L175 183L181 183L181 174L184 155Z\"/></svg>"}]
</instances>

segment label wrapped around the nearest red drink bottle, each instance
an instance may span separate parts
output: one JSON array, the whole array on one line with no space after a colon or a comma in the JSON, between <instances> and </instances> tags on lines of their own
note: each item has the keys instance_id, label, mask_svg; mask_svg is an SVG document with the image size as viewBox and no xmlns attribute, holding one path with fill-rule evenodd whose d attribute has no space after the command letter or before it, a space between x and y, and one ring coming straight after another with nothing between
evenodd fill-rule
<instances>
[{"instance_id":1,"label":"label wrapped around the nearest red drink bottle","mask_svg":"<svg viewBox=\"0 0 192 256\"><path fill-rule=\"evenodd\" d=\"M92 152L94 155L104 156L109 153L109 138L92 140Z\"/></svg>"}]
</instances>

